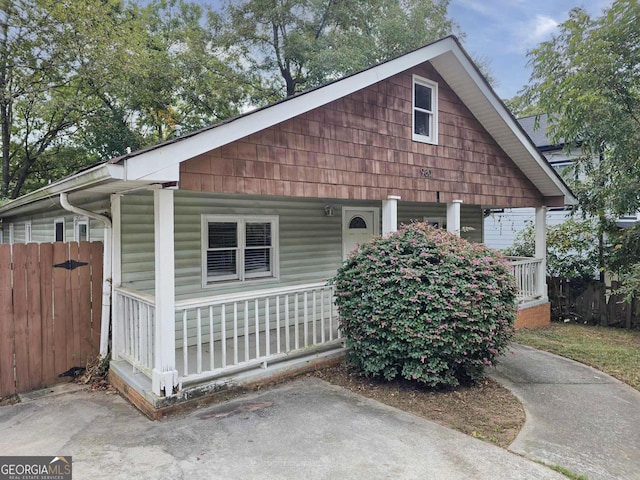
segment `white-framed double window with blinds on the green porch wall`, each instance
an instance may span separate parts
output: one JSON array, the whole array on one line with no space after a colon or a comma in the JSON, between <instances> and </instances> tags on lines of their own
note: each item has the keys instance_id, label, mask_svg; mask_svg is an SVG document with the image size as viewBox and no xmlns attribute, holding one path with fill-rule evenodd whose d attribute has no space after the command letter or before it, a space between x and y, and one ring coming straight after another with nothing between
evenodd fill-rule
<instances>
[{"instance_id":1,"label":"white-framed double window with blinds on the green porch wall","mask_svg":"<svg viewBox=\"0 0 640 480\"><path fill-rule=\"evenodd\" d=\"M277 277L278 217L202 216L203 284Z\"/></svg>"}]
</instances>

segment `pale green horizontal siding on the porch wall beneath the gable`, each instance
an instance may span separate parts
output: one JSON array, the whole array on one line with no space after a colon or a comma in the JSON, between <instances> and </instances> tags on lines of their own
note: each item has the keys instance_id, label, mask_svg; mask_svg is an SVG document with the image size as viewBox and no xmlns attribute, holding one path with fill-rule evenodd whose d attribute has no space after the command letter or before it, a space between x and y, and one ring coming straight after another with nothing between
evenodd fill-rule
<instances>
[{"instance_id":1,"label":"pale green horizontal siding on the porch wall beneath the gable","mask_svg":"<svg viewBox=\"0 0 640 480\"><path fill-rule=\"evenodd\" d=\"M176 191L176 298L208 297L255 289L324 282L342 263L342 206L380 207L375 201L277 198ZM330 203L334 216L325 215ZM203 287L202 215L278 217L278 278L250 282L214 282ZM398 222L424 217L446 217L445 204L398 203ZM482 240L482 209L462 205L462 236ZM467 228L465 228L467 227ZM154 292L153 196L135 193L122 197L123 286Z\"/></svg>"}]
</instances>

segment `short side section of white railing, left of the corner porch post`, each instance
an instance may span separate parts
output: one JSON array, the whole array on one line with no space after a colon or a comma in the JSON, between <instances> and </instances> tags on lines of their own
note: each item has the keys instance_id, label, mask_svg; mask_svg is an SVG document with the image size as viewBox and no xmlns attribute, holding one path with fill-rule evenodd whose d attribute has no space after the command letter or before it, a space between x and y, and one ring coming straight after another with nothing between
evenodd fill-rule
<instances>
[{"instance_id":1,"label":"short side section of white railing, left of the corner porch post","mask_svg":"<svg viewBox=\"0 0 640 480\"><path fill-rule=\"evenodd\" d=\"M153 368L155 300L142 292L114 289L114 357L124 358L151 378Z\"/></svg>"}]
</instances>

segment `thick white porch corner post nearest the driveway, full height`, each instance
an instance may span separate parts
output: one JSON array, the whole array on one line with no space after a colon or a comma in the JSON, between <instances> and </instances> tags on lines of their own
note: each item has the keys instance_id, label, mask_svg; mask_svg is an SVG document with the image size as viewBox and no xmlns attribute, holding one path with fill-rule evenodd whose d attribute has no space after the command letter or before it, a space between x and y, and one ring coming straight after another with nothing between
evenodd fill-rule
<instances>
[{"instance_id":1,"label":"thick white porch corner post nearest the driveway, full height","mask_svg":"<svg viewBox=\"0 0 640 480\"><path fill-rule=\"evenodd\" d=\"M155 236L155 345L151 389L171 395L178 385L175 346L175 267L173 190L153 191Z\"/></svg>"}]
</instances>

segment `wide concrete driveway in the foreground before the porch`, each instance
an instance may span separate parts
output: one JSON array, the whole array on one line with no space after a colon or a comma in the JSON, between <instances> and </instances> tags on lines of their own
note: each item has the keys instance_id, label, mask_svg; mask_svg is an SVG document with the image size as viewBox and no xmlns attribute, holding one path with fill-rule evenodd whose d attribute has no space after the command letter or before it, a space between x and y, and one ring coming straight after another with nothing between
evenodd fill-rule
<instances>
[{"instance_id":1,"label":"wide concrete driveway in the foreground before the porch","mask_svg":"<svg viewBox=\"0 0 640 480\"><path fill-rule=\"evenodd\" d=\"M315 378L158 422L117 395L37 398L0 408L0 452L72 455L78 479L566 480Z\"/></svg>"}]
</instances>

